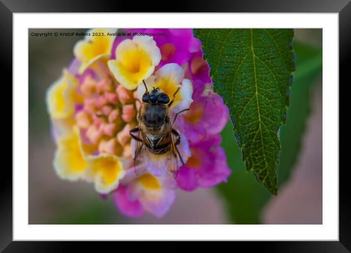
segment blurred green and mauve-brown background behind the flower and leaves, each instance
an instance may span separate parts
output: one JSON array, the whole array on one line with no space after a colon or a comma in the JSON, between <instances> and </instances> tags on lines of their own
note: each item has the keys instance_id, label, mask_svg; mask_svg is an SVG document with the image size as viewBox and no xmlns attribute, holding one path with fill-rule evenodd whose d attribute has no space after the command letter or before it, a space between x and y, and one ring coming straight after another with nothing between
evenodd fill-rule
<instances>
[{"instance_id":1,"label":"blurred green and mauve-brown background behind the flower and leaves","mask_svg":"<svg viewBox=\"0 0 351 253\"><path fill-rule=\"evenodd\" d=\"M278 196L246 172L229 122L222 132L232 170L227 183L178 191L162 219L119 214L92 184L61 180L54 173L55 144L45 94L73 59L82 37L34 37L29 29L29 224L322 224L322 29L295 29L296 68L286 125L281 127Z\"/></svg>"}]
</instances>

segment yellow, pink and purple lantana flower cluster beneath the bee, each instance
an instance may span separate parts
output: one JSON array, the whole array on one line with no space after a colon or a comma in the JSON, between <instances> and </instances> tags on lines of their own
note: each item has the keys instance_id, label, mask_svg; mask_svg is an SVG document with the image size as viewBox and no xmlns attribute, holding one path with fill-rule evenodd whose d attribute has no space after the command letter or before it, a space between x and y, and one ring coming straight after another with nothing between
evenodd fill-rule
<instances>
[{"instance_id":1,"label":"yellow, pink and purple lantana flower cluster beneath the bee","mask_svg":"<svg viewBox=\"0 0 351 253\"><path fill-rule=\"evenodd\" d=\"M150 212L162 217L175 201L177 188L192 191L227 180L230 170L220 147L220 131L228 109L208 89L209 69L192 29L125 29L123 36L117 32L88 30L75 44L70 66L48 89L51 133L57 145L53 167L62 179L93 183L126 216ZM152 33L166 36L145 35ZM152 162L135 173L135 141L129 130L138 126L143 80L171 99L180 88L171 119L190 108L174 125L185 162L176 178Z\"/></svg>"}]
</instances>

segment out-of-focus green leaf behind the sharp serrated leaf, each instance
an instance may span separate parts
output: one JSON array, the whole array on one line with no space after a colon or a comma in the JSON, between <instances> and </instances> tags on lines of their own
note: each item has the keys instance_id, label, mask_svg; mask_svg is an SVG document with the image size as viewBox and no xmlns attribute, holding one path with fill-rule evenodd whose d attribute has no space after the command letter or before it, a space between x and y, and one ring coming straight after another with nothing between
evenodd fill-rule
<instances>
[{"instance_id":1,"label":"out-of-focus green leaf behind the sharp serrated leaf","mask_svg":"<svg viewBox=\"0 0 351 253\"><path fill-rule=\"evenodd\" d=\"M294 42L296 72L291 86L290 106L286 125L280 130L281 154L278 166L278 186L289 178L299 155L301 140L310 112L310 91L322 73L322 50ZM229 122L222 131L222 147L232 170L228 182L218 186L219 193L226 200L230 220L235 224L259 224L263 206L271 194L246 173L241 161L240 149L233 145L232 124Z\"/></svg>"}]
</instances>

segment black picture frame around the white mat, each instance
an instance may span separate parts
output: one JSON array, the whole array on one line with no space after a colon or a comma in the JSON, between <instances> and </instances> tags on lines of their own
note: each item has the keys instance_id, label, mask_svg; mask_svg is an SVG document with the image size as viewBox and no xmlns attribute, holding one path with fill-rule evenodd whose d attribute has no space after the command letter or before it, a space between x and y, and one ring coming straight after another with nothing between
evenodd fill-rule
<instances>
[{"instance_id":1,"label":"black picture frame around the white mat","mask_svg":"<svg viewBox=\"0 0 351 253\"><path fill-rule=\"evenodd\" d=\"M150 3L150 2L149 2ZM97 0L0 0L1 27L1 65L3 73L12 73L12 15L19 12L144 12L150 4L131 1L97 1ZM153 2L155 6L166 6ZM170 11L171 9L167 9ZM167 12L166 10L166 12ZM339 80L346 83L351 69L351 2L350 0L242 0L242 1L208 1L196 0L177 2L172 12L311 12L339 13ZM12 83L12 75L7 83ZM348 83L350 83L348 78ZM9 87L9 86L8 86ZM12 90L9 91L12 94ZM9 93L8 93L9 94ZM346 107L348 100L341 100L339 108ZM344 106L343 106L344 105ZM339 115L343 115L339 113ZM348 115L348 114L346 114ZM12 116L11 116L12 117ZM7 126L9 128L10 126ZM12 126L11 126L12 129ZM341 149L340 149L341 150ZM345 150L344 150L345 152ZM299 241L299 242L246 242L247 250L259 248L263 252L350 252L351 218L350 189L347 171L349 166L339 170L339 241ZM6 169L7 168L7 169ZM2 168L1 177L6 178L1 184L0 205L0 250L4 252L47 252L66 251L65 242L19 242L12 241L12 173L7 167ZM336 169L336 168L330 168ZM240 243L240 242L235 242ZM171 245L173 245L172 243ZM72 243L70 244L72 245ZM202 244L207 247L206 244ZM90 247L90 246L89 246ZM183 247L176 247L179 251ZM71 248L72 249L72 248ZM174 248L172 248L174 249ZM170 250L171 251L171 250Z\"/></svg>"}]
</instances>

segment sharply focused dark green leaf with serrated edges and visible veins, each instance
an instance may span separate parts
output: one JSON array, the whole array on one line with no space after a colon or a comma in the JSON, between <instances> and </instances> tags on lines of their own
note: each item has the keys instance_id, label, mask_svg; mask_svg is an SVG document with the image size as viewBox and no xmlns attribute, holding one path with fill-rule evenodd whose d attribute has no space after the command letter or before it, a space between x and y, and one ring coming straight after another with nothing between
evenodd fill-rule
<instances>
[{"instance_id":1,"label":"sharply focused dark green leaf with serrated edges and visible veins","mask_svg":"<svg viewBox=\"0 0 351 253\"><path fill-rule=\"evenodd\" d=\"M229 108L246 169L277 194L278 132L294 71L293 29L194 29Z\"/></svg>"}]
</instances>

